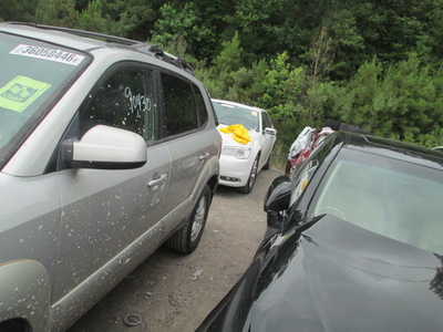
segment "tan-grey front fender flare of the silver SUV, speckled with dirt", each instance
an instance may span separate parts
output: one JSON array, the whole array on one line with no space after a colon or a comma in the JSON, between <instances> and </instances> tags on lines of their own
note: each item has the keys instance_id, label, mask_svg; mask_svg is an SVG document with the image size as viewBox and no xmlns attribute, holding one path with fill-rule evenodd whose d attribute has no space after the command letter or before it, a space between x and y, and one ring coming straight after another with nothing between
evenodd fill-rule
<instances>
[{"instance_id":1,"label":"tan-grey front fender flare of the silver SUV, speckled with dirt","mask_svg":"<svg viewBox=\"0 0 443 332\"><path fill-rule=\"evenodd\" d=\"M0 264L0 322L25 319L32 331L48 331L51 288L48 271L35 260Z\"/></svg>"}]
</instances>

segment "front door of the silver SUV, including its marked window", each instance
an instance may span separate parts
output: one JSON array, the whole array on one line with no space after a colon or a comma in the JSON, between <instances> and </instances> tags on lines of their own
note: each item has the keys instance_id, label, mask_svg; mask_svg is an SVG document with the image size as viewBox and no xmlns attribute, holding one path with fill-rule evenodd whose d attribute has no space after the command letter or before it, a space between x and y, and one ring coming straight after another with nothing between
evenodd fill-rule
<instances>
[{"instance_id":1,"label":"front door of the silver SUV, including its marked window","mask_svg":"<svg viewBox=\"0 0 443 332\"><path fill-rule=\"evenodd\" d=\"M158 221L165 215L171 158L157 141L153 69L134 63L112 68L86 97L65 139L81 138L97 124L141 135L147 163L134 169L59 172L63 207L53 301L68 295L142 235L151 232L153 248L162 239ZM110 272L110 278L116 276Z\"/></svg>"}]
</instances>

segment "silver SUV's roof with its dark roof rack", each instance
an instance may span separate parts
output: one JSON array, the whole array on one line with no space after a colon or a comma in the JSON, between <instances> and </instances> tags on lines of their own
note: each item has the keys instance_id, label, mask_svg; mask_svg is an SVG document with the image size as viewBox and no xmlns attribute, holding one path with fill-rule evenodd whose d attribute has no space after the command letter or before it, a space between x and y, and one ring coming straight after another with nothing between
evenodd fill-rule
<instances>
[{"instance_id":1,"label":"silver SUV's roof with its dark roof rack","mask_svg":"<svg viewBox=\"0 0 443 332\"><path fill-rule=\"evenodd\" d=\"M109 35L104 33L42 25L23 22L0 22L0 32L17 34L35 40L47 41L70 49L90 52L96 49L125 49L128 51L142 52L167 63L187 73L194 74L193 68L184 59L164 52L154 44L140 42L126 38Z\"/></svg>"}]
</instances>

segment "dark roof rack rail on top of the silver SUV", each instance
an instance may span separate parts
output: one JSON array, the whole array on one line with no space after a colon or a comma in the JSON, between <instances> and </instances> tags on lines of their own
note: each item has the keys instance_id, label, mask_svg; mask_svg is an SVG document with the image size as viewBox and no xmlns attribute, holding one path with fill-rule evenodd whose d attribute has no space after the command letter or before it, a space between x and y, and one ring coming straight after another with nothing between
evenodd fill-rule
<instances>
[{"instance_id":1,"label":"dark roof rack rail on top of the silver SUV","mask_svg":"<svg viewBox=\"0 0 443 332\"><path fill-rule=\"evenodd\" d=\"M54 31L66 32L66 33L71 33L71 34L80 35L80 37L103 40L106 43L117 44L117 45L125 46L125 48L134 50L134 51L138 51L142 53L152 55L156 59L159 59L167 63L171 63L171 64L184 70L185 72L194 75L193 66L188 62L186 62L182 58L177 58L173 54L164 52L162 49L159 49L158 46L156 46L154 44L140 42L140 41L123 38L123 37L110 35L110 34L105 34L105 33L92 32L92 31L85 31L85 30L79 30L79 29L71 29L71 28L61 28L61 27L52 27L52 25L44 25L44 24L37 24L37 23L24 23L24 22L6 22L6 23L34 27L38 29L45 29L45 30L54 30Z\"/></svg>"}]
</instances>

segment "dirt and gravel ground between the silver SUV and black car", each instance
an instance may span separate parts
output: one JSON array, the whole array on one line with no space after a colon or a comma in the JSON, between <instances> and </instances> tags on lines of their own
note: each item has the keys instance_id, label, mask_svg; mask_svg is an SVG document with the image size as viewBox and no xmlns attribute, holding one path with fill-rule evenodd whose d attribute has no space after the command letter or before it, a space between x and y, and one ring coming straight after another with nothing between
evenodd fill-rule
<instances>
[{"instance_id":1,"label":"dirt and gravel ground between the silver SUV and black car","mask_svg":"<svg viewBox=\"0 0 443 332\"><path fill-rule=\"evenodd\" d=\"M266 230L265 193L281 174L260 172L249 195L219 186L192 255L159 248L69 332L194 331L251 261ZM128 314L141 322L126 326Z\"/></svg>"}]
</instances>

